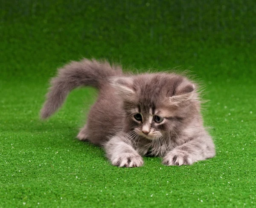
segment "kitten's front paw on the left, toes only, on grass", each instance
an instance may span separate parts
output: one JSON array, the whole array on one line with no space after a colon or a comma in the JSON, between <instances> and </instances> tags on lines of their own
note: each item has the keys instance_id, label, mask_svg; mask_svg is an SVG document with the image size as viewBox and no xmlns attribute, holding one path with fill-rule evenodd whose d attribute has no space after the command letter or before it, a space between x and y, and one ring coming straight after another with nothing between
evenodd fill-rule
<instances>
[{"instance_id":1,"label":"kitten's front paw on the left, toes only, on grass","mask_svg":"<svg viewBox=\"0 0 256 208\"><path fill-rule=\"evenodd\" d=\"M119 167L134 168L143 165L143 158L140 155L131 153L116 156L111 160L112 164Z\"/></svg>"}]
</instances>

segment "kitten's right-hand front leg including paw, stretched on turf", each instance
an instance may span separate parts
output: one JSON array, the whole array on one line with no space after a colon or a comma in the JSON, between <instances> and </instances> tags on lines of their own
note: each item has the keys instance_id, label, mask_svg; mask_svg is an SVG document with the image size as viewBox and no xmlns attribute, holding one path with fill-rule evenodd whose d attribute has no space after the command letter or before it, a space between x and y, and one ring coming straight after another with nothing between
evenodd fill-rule
<instances>
[{"instance_id":1,"label":"kitten's right-hand front leg including paw, stretched on turf","mask_svg":"<svg viewBox=\"0 0 256 208\"><path fill-rule=\"evenodd\" d=\"M215 156L215 149L209 135L193 138L169 151L163 158L165 165L192 165L199 160Z\"/></svg>"}]
</instances>

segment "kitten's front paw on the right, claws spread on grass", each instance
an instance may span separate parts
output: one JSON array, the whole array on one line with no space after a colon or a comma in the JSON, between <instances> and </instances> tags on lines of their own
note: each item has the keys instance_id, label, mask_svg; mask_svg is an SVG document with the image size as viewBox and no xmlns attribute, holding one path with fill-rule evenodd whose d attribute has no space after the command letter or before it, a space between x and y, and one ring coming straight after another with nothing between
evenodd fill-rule
<instances>
[{"instance_id":1,"label":"kitten's front paw on the right, claws spread on grass","mask_svg":"<svg viewBox=\"0 0 256 208\"><path fill-rule=\"evenodd\" d=\"M172 150L163 158L164 165L192 165L193 160L187 152Z\"/></svg>"}]
</instances>

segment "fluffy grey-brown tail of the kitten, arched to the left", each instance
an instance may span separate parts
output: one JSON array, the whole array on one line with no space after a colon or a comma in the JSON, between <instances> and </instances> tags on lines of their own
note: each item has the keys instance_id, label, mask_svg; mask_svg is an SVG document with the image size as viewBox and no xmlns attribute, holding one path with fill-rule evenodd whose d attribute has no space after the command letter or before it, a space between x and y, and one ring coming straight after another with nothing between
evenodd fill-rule
<instances>
[{"instance_id":1,"label":"fluffy grey-brown tail of the kitten, arched to the left","mask_svg":"<svg viewBox=\"0 0 256 208\"><path fill-rule=\"evenodd\" d=\"M93 86L100 89L108 77L119 76L122 69L111 66L107 61L83 59L72 61L58 70L58 75L51 80L47 100L41 109L41 118L51 116L64 103L67 94L79 86Z\"/></svg>"}]
</instances>

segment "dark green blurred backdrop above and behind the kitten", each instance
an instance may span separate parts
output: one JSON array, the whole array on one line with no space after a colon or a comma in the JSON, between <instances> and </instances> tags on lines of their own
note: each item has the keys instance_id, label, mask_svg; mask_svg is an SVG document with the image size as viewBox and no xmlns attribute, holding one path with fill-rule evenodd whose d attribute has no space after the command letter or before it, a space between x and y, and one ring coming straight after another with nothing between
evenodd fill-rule
<instances>
[{"instance_id":1,"label":"dark green blurred backdrop above and behind the kitten","mask_svg":"<svg viewBox=\"0 0 256 208\"><path fill-rule=\"evenodd\" d=\"M0 9L1 79L45 83L82 57L180 66L211 82L255 77L254 1L9 0Z\"/></svg>"}]
</instances>

